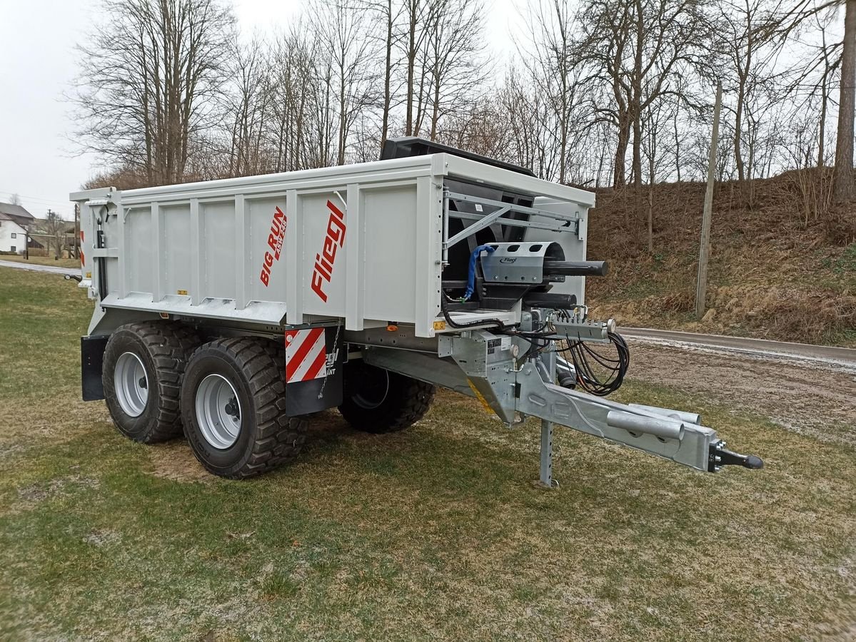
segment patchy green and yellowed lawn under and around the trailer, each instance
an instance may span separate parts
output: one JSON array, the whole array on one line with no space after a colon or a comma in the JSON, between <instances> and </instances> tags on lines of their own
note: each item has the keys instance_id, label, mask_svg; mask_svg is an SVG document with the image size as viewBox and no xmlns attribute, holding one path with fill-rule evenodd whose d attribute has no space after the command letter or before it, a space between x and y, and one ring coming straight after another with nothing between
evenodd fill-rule
<instances>
[{"instance_id":1,"label":"patchy green and yellowed lawn under and around the trailer","mask_svg":"<svg viewBox=\"0 0 856 642\"><path fill-rule=\"evenodd\" d=\"M694 474L441 394L405 433L319 415L288 468L212 478L79 401L91 303L0 268L0 639L853 639L854 451L700 410L759 472ZM725 383L723 382L723 385ZM798 399L794 403L799 403Z\"/></svg>"}]
</instances>

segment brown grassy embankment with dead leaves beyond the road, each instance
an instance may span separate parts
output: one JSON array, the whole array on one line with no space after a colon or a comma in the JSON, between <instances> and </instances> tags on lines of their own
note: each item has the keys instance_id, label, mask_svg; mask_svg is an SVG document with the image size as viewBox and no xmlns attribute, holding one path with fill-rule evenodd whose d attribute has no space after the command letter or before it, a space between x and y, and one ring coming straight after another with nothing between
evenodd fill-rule
<instances>
[{"instance_id":1,"label":"brown grassy embankment with dead leaves beyond the road","mask_svg":"<svg viewBox=\"0 0 856 642\"><path fill-rule=\"evenodd\" d=\"M856 212L816 214L817 174L755 181L755 205L717 186L707 307L693 316L704 184L658 185L654 250L630 191L602 191L589 224L589 256L609 260L587 280L592 314L620 325L856 347ZM824 178L823 180L826 180ZM647 215L647 194L642 203Z\"/></svg>"}]
</instances>

